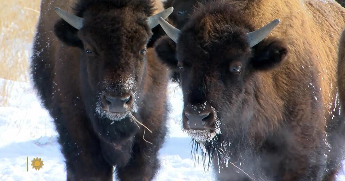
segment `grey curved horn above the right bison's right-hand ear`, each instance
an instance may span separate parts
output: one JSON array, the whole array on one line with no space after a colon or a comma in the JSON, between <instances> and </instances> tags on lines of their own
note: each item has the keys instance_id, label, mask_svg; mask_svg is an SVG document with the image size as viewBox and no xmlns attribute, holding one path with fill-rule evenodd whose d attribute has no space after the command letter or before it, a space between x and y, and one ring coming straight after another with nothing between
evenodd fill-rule
<instances>
[{"instance_id":1,"label":"grey curved horn above the right bison's right-hand ear","mask_svg":"<svg viewBox=\"0 0 345 181\"><path fill-rule=\"evenodd\" d=\"M265 39L267 35L280 23L279 19L275 19L270 23L266 24L264 27L247 33L247 39L249 42L249 46L253 47L258 44L260 41Z\"/></svg>"}]
</instances>

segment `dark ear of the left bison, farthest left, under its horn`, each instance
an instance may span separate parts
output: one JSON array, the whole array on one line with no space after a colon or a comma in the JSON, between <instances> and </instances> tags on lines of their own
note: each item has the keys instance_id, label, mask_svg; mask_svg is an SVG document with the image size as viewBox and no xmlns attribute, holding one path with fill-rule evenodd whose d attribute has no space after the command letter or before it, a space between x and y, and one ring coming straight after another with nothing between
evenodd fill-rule
<instances>
[{"instance_id":1,"label":"dark ear of the left bison, farthest left, under its horn","mask_svg":"<svg viewBox=\"0 0 345 181\"><path fill-rule=\"evenodd\" d=\"M78 31L63 19L54 24L54 33L59 40L68 46L83 48L82 41L77 36Z\"/></svg>"}]
</instances>

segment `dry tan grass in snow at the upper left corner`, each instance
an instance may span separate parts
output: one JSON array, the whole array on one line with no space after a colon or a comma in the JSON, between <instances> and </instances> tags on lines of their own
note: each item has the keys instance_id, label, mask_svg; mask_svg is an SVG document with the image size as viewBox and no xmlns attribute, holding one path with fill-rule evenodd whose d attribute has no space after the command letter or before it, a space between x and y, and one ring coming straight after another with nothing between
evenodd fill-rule
<instances>
[{"instance_id":1,"label":"dry tan grass in snow at the upper left corner","mask_svg":"<svg viewBox=\"0 0 345 181\"><path fill-rule=\"evenodd\" d=\"M28 65L40 0L0 1L0 106L7 104L11 81L28 82Z\"/></svg>"}]
</instances>

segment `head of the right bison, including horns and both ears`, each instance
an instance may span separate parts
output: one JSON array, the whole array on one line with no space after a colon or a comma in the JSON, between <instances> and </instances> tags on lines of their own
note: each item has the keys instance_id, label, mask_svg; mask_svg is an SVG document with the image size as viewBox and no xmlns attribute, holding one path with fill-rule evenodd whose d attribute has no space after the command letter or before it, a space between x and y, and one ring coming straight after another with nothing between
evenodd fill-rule
<instances>
[{"instance_id":1,"label":"head of the right bison, including horns and both ears","mask_svg":"<svg viewBox=\"0 0 345 181\"><path fill-rule=\"evenodd\" d=\"M236 134L246 129L253 116L250 102L255 100L256 77L281 64L287 53L284 41L264 39L278 23L250 33L237 26L205 29L197 23L179 31L161 19L162 28L177 44L175 49L164 38L156 51L170 66L171 59L161 55L176 53L175 69L184 95L183 128L196 141L211 141L222 130Z\"/></svg>"}]
</instances>

